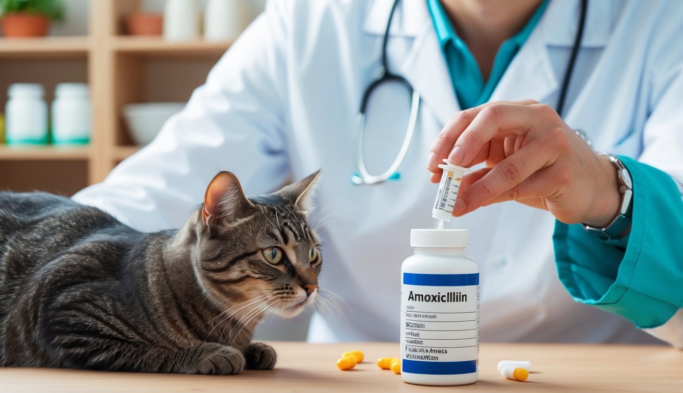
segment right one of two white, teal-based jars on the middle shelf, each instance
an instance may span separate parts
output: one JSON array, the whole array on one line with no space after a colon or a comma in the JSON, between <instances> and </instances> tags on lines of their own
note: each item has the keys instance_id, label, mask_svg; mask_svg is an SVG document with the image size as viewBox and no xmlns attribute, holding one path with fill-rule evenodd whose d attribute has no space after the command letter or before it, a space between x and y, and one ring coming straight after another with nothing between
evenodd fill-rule
<instances>
[{"instance_id":1,"label":"right one of two white, teal-based jars on the middle shelf","mask_svg":"<svg viewBox=\"0 0 683 393\"><path fill-rule=\"evenodd\" d=\"M52 102L52 139L56 144L90 141L92 121L89 89L85 83L59 83Z\"/></svg>"}]
</instances>

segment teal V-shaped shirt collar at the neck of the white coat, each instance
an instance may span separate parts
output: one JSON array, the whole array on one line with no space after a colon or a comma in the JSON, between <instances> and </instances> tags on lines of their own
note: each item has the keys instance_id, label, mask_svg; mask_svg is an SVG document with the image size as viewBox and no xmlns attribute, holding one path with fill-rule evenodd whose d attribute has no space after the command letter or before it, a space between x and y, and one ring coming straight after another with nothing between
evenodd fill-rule
<instances>
[{"instance_id":1,"label":"teal V-shaped shirt collar at the neck of the white coat","mask_svg":"<svg viewBox=\"0 0 683 393\"><path fill-rule=\"evenodd\" d=\"M522 27L520 31L501 44L493 61L491 73L485 83L477 60L464 41L458 37L441 2L439 0L428 0L432 22L434 29L436 29L436 37L446 59L451 83L453 83L453 90L458 97L460 108L472 108L488 101L503 74L505 74L507 66L510 65L519 48L527 41L531 31L538 25L538 20L540 20L547 5L548 0L543 0L525 27Z\"/></svg>"}]
</instances>

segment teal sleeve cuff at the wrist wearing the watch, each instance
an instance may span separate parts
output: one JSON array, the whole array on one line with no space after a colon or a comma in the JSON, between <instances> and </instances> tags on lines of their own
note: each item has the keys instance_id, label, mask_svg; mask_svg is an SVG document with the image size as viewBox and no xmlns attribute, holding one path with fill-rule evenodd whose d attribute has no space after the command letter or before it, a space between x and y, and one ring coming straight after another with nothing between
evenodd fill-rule
<instances>
[{"instance_id":1,"label":"teal sleeve cuff at the wrist wearing the watch","mask_svg":"<svg viewBox=\"0 0 683 393\"><path fill-rule=\"evenodd\" d=\"M667 173L619 158L633 181L630 234L608 242L555 222L557 274L576 302L658 327L683 307L683 199Z\"/></svg>"}]
</instances>

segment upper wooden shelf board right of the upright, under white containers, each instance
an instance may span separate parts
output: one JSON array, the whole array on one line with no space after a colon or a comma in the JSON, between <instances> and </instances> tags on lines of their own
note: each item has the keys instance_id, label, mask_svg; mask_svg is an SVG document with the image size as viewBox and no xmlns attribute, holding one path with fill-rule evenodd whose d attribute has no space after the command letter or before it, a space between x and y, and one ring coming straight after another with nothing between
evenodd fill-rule
<instances>
[{"instance_id":1,"label":"upper wooden shelf board right of the upright, under white containers","mask_svg":"<svg viewBox=\"0 0 683 393\"><path fill-rule=\"evenodd\" d=\"M130 53L144 57L220 57L231 44L232 41L168 42L161 37L118 36L112 40L113 50L118 53Z\"/></svg>"}]
</instances>

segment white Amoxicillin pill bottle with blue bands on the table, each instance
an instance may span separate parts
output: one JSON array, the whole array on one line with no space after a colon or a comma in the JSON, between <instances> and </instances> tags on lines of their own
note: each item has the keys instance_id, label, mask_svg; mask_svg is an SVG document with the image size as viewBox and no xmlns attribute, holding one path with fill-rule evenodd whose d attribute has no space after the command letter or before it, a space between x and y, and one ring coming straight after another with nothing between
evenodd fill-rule
<instances>
[{"instance_id":1,"label":"white Amoxicillin pill bottle with blue bands on the table","mask_svg":"<svg viewBox=\"0 0 683 393\"><path fill-rule=\"evenodd\" d=\"M479 374L479 267L466 230L413 229L401 266L401 377L466 385Z\"/></svg>"}]
</instances>

